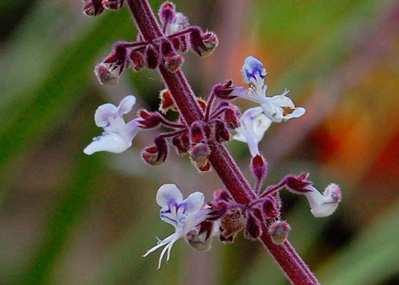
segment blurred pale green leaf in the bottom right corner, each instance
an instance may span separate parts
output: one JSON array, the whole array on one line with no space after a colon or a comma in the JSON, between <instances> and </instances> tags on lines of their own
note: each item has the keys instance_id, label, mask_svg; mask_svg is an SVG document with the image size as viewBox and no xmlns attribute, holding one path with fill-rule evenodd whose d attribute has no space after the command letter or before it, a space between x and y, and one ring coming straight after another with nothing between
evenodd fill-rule
<instances>
[{"instance_id":1,"label":"blurred pale green leaf in the bottom right corner","mask_svg":"<svg viewBox=\"0 0 399 285\"><path fill-rule=\"evenodd\" d=\"M323 284L380 284L399 274L399 202L326 260L316 274Z\"/></svg>"}]
</instances>

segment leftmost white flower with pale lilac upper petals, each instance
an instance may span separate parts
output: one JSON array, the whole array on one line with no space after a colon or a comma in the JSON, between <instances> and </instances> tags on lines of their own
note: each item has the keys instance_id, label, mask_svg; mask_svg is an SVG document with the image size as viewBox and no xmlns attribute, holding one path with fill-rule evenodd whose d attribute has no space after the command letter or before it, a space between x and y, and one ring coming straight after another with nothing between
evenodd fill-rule
<instances>
[{"instance_id":1,"label":"leftmost white flower with pale lilac upper petals","mask_svg":"<svg viewBox=\"0 0 399 285\"><path fill-rule=\"evenodd\" d=\"M132 140L140 129L138 119L125 123L123 115L132 110L135 102L135 96L128 95L120 101L118 107L107 103L97 108L94 115L95 125L103 128L104 133L93 138L93 142L83 150L86 155L99 151L120 153L132 145Z\"/></svg>"}]
</instances>

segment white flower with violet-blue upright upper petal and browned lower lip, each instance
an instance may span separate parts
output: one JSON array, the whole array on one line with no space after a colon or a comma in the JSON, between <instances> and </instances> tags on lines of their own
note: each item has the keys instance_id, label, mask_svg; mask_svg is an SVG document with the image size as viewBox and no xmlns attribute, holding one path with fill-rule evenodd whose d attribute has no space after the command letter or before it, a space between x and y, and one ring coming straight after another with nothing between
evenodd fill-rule
<instances>
[{"instance_id":1,"label":"white flower with violet-blue upright upper petal and browned lower lip","mask_svg":"<svg viewBox=\"0 0 399 285\"><path fill-rule=\"evenodd\" d=\"M264 114L273 122L285 122L291 118L299 118L304 115L304 108L296 108L292 100L286 97L289 90L284 90L280 95L273 97L266 96L267 86L264 83L266 69L261 61L253 56L249 56L242 66L244 82L249 84L249 89L237 88L233 94L239 98L251 100L261 105Z\"/></svg>"}]
</instances>

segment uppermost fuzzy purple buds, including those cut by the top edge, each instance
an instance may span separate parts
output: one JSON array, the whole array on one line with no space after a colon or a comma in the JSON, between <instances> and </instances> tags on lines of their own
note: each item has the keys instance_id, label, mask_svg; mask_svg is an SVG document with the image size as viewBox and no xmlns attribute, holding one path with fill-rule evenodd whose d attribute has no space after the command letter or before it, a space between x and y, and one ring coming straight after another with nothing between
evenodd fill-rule
<instances>
[{"instance_id":1,"label":"uppermost fuzzy purple buds, including those cut by the top edge","mask_svg":"<svg viewBox=\"0 0 399 285\"><path fill-rule=\"evenodd\" d=\"M103 11L105 3L108 6L120 7L123 1L90 0L84 11L96 16ZM129 67L140 71L145 67L155 69L162 65L171 73L175 73L184 61L178 52L184 53L191 49L199 56L209 56L219 43L212 31L204 32L198 26L190 26L187 18L176 12L175 6L170 2L161 6L159 16L163 31L160 38L144 41L139 34L138 41L119 41L114 44L110 55L95 66L95 76L102 85L118 83L121 73Z\"/></svg>"}]
</instances>

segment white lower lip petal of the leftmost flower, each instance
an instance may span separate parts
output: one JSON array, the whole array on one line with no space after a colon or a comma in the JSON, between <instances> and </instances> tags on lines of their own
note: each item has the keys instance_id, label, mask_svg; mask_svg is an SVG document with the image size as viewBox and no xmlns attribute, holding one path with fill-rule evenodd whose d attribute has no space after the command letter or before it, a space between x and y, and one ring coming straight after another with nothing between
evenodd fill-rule
<instances>
[{"instance_id":1,"label":"white lower lip petal of the leftmost flower","mask_svg":"<svg viewBox=\"0 0 399 285\"><path fill-rule=\"evenodd\" d=\"M85 152L86 155L92 155L94 152L100 151L120 153L127 150L130 145L132 145L132 142L126 141L123 136L118 133L104 132L103 135L93 138L93 142L91 142L83 152Z\"/></svg>"}]
</instances>

